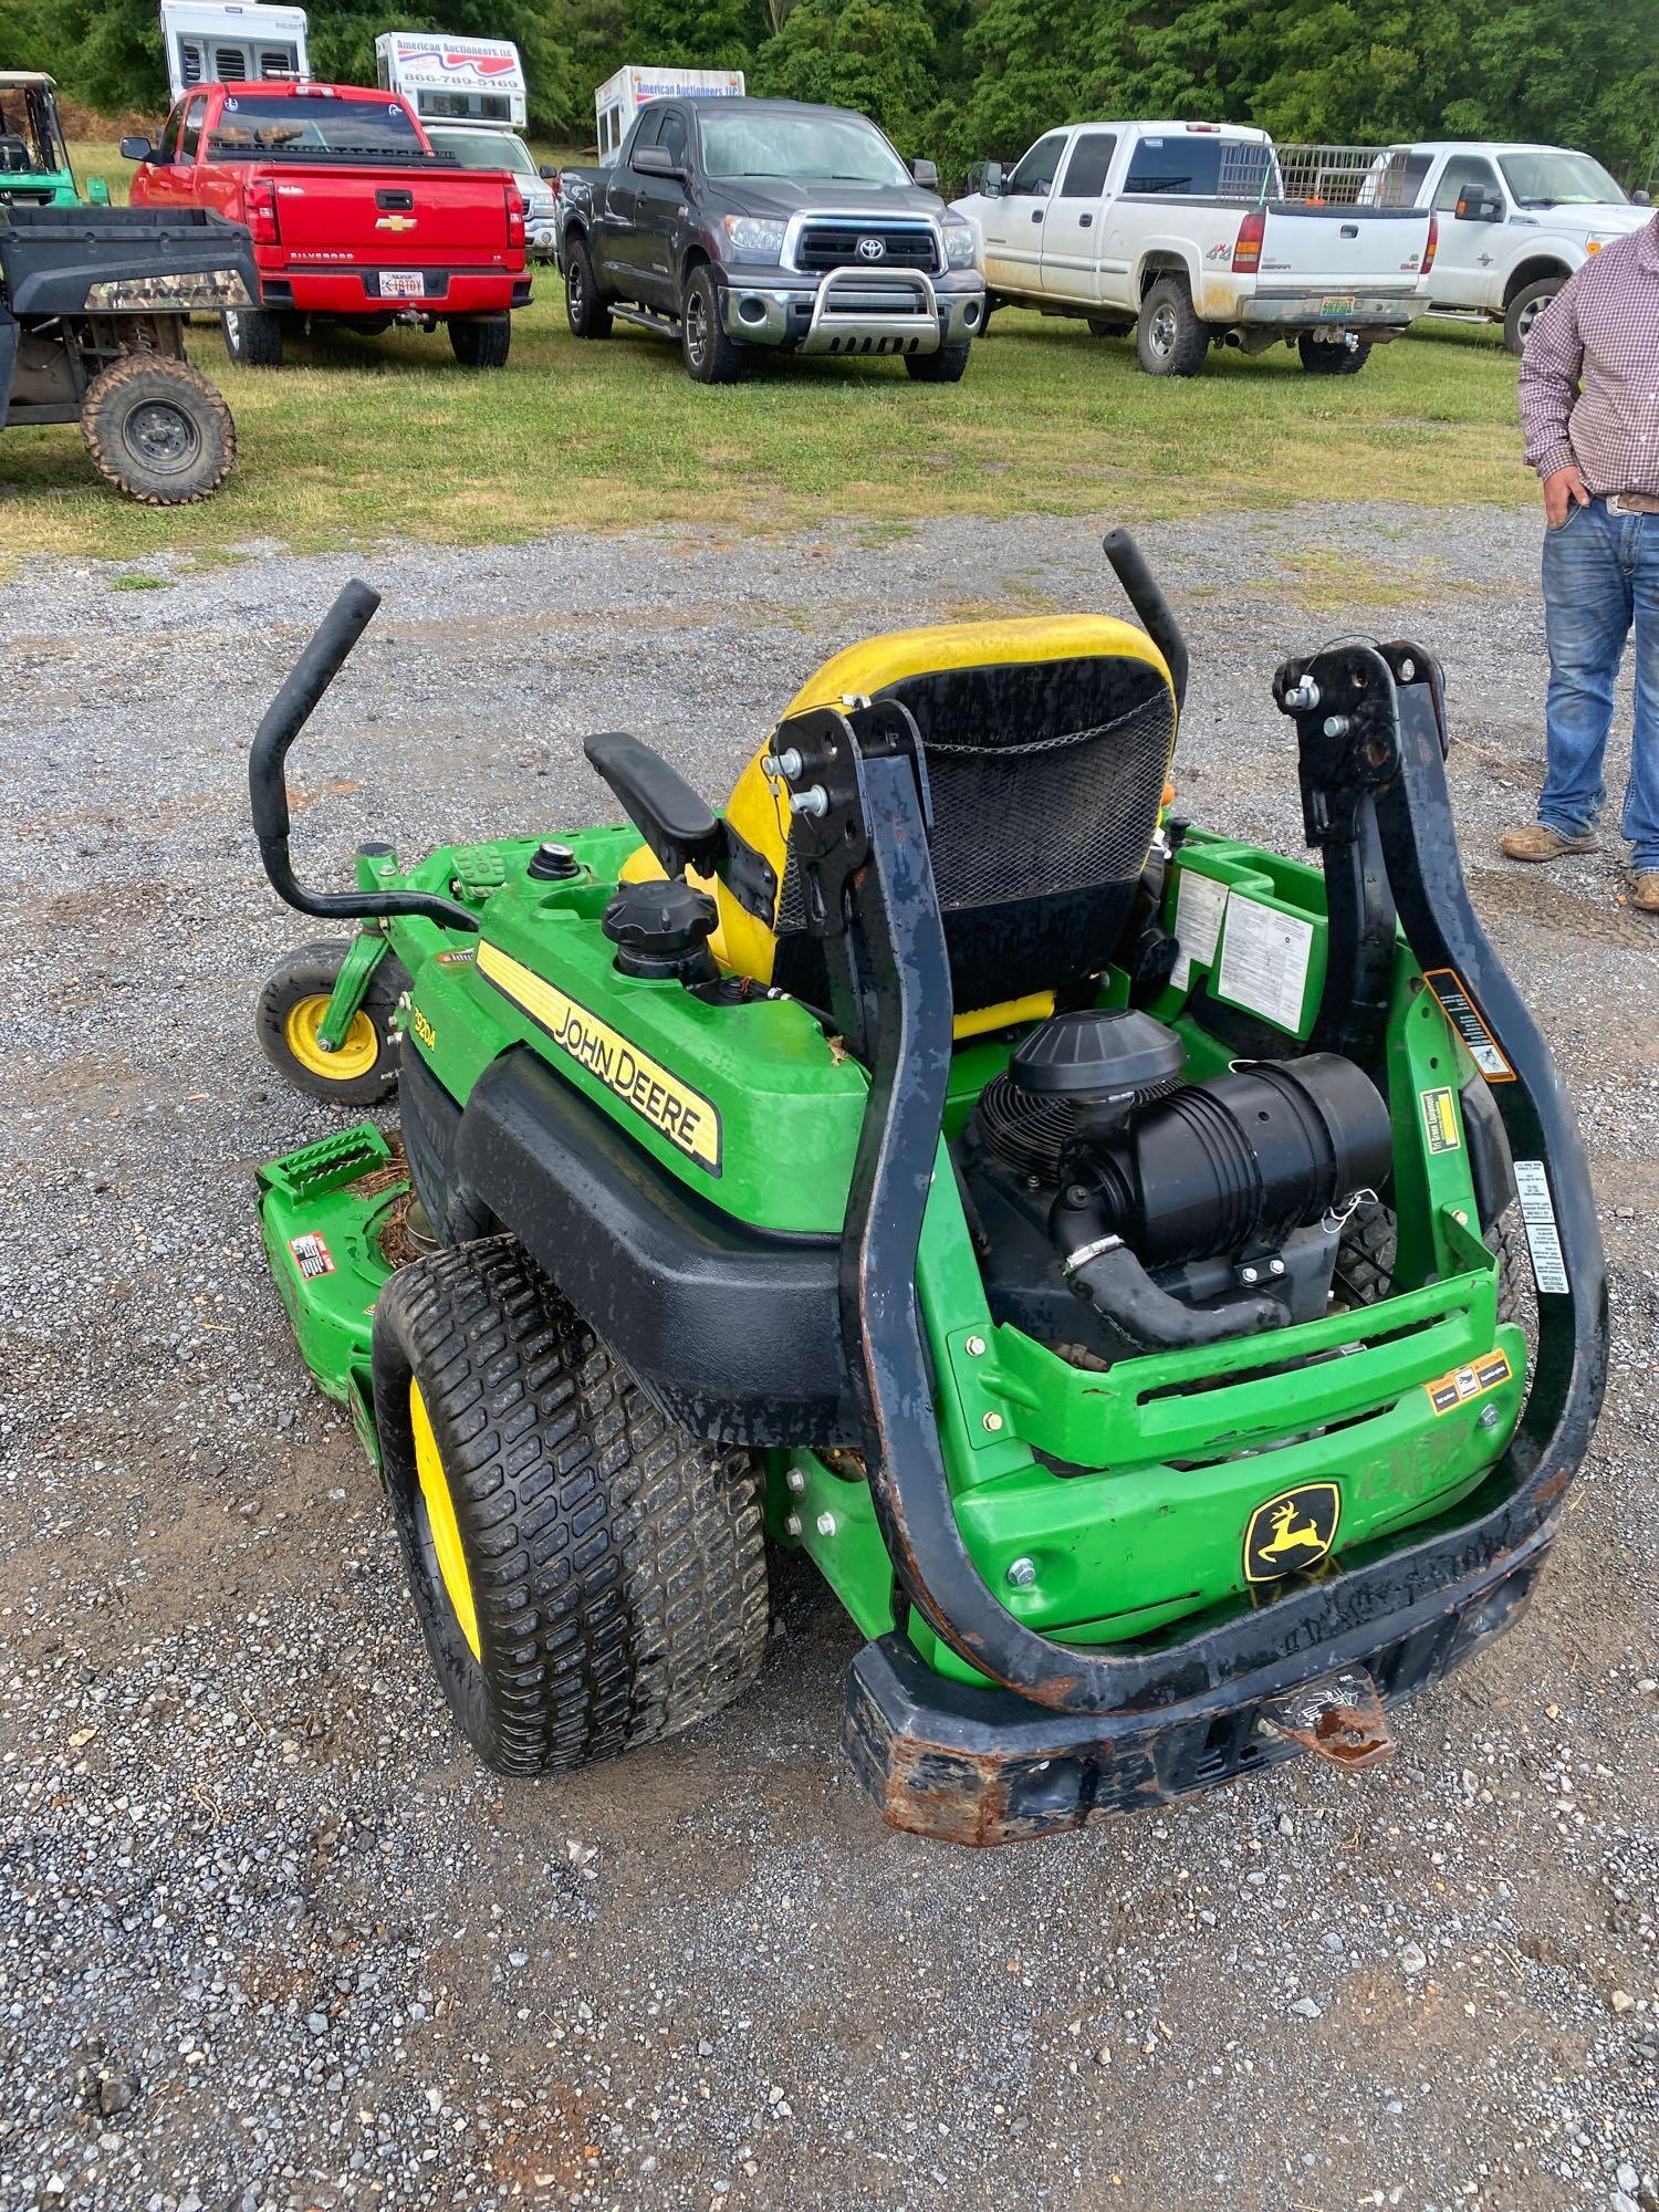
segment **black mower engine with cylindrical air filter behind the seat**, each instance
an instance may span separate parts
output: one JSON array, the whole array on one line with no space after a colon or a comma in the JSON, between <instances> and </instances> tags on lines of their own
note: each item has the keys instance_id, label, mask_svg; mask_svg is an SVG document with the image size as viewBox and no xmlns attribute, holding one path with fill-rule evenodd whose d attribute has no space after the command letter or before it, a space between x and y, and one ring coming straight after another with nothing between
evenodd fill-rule
<instances>
[{"instance_id":1,"label":"black mower engine with cylindrical air filter behind the seat","mask_svg":"<svg viewBox=\"0 0 1659 2212\"><path fill-rule=\"evenodd\" d=\"M998 1321L1088 1365L1316 1321L1340 1225L1389 1181L1352 1060L1181 1082L1148 1013L1060 1013L980 1095L958 1152Z\"/></svg>"}]
</instances>

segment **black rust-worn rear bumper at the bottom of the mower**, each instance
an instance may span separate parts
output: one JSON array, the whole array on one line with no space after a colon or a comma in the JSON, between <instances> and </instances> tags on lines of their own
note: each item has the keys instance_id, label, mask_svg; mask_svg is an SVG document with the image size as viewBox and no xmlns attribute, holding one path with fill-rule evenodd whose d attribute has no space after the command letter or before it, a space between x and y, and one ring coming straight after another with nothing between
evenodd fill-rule
<instances>
[{"instance_id":1,"label":"black rust-worn rear bumper at the bottom of the mower","mask_svg":"<svg viewBox=\"0 0 1659 2212\"><path fill-rule=\"evenodd\" d=\"M1385 1705L1409 1703L1522 1617L1553 1535L1553 1524L1540 1528L1469 1582L1332 1637L1321 1668L1363 1666ZM1024 1843L1301 1756L1261 1719L1263 1677L1250 1688L1243 1703L1230 1688L1159 1712L1066 1714L936 1674L889 1635L854 1659L843 1741L891 1827L942 1843Z\"/></svg>"}]
</instances>

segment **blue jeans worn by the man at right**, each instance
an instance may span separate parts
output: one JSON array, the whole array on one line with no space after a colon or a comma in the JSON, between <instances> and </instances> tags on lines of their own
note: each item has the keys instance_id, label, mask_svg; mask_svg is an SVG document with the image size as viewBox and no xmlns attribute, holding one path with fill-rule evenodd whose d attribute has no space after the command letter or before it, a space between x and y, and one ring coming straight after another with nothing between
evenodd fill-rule
<instances>
[{"instance_id":1,"label":"blue jeans worn by the man at right","mask_svg":"<svg viewBox=\"0 0 1659 2212\"><path fill-rule=\"evenodd\" d=\"M1551 648L1548 768L1537 818L1562 836L1595 827L1613 679L1637 633L1637 723L1624 834L1637 872L1659 869L1659 515L1568 507L1544 531L1544 635Z\"/></svg>"}]
</instances>

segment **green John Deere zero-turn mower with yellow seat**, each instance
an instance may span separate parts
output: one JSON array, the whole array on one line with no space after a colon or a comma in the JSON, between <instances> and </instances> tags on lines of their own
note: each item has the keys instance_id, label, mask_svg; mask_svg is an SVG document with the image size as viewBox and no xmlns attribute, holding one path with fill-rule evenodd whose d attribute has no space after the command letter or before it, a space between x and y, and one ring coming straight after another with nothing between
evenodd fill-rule
<instances>
[{"instance_id":1,"label":"green John Deere zero-turn mower with yellow seat","mask_svg":"<svg viewBox=\"0 0 1659 2212\"><path fill-rule=\"evenodd\" d=\"M1433 657L1287 661L1323 867L1172 816L1188 653L900 630L821 668L723 814L633 737L626 823L290 863L352 920L270 980L303 1091L396 1097L259 1175L321 1387L502 1774L757 1677L768 1540L867 1639L896 1827L1004 1843L1321 1752L1509 1626L1606 1365L1584 1152L1464 894Z\"/></svg>"}]
</instances>

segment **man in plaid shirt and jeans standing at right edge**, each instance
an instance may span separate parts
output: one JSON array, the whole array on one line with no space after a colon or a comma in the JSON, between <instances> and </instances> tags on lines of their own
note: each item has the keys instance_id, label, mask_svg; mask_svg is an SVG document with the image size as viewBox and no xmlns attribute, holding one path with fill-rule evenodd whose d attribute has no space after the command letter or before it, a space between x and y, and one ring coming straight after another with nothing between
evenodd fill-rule
<instances>
[{"instance_id":1,"label":"man in plaid shirt and jeans standing at right edge","mask_svg":"<svg viewBox=\"0 0 1659 2212\"><path fill-rule=\"evenodd\" d=\"M1533 323L1520 414L1544 484L1548 745L1537 821L1502 849L1511 860L1595 852L1613 679L1635 628L1621 827L1630 902L1659 914L1659 215L1593 254Z\"/></svg>"}]
</instances>

